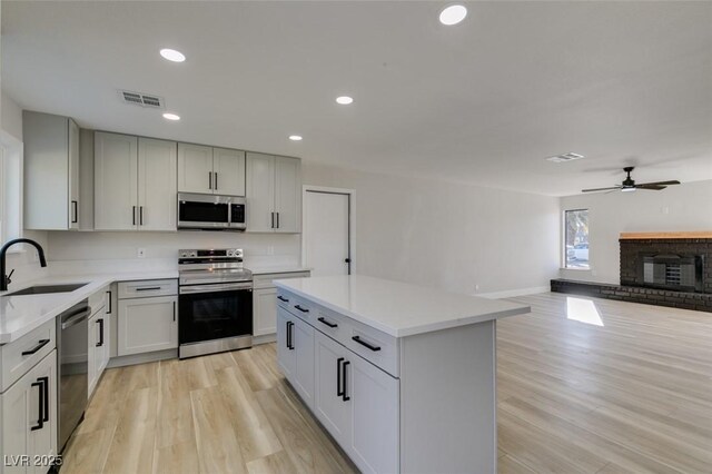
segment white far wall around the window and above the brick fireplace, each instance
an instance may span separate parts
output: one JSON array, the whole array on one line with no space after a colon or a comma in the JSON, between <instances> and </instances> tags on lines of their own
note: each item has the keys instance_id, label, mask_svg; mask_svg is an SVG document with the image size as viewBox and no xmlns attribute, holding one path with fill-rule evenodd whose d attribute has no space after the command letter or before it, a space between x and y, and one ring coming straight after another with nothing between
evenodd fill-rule
<instances>
[{"instance_id":1,"label":"white far wall around the window and above the brick fireplace","mask_svg":"<svg viewBox=\"0 0 712 474\"><path fill-rule=\"evenodd\" d=\"M619 284L621 233L712 230L712 180L662 191L567 196L561 198L566 209L589 209L591 270L562 269L562 278Z\"/></svg>"}]
</instances>

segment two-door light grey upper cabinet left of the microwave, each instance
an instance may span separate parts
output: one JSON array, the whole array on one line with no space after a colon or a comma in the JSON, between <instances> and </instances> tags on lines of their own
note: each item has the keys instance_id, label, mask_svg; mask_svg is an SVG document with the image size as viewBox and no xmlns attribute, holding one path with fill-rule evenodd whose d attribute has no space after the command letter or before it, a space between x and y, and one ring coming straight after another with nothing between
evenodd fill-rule
<instances>
[{"instance_id":1,"label":"two-door light grey upper cabinet left of the microwave","mask_svg":"<svg viewBox=\"0 0 712 474\"><path fill-rule=\"evenodd\" d=\"M95 134L95 229L176 230L176 142Z\"/></svg>"}]
</instances>

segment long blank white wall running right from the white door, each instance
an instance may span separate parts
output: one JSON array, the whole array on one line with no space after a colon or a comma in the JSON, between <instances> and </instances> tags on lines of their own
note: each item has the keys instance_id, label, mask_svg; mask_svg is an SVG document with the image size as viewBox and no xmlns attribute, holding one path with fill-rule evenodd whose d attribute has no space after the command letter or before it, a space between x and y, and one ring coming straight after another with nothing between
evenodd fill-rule
<instances>
[{"instance_id":1,"label":"long blank white wall running right from the white door","mask_svg":"<svg viewBox=\"0 0 712 474\"><path fill-rule=\"evenodd\" d=\"M547 287L558 199L303 164L305 185L356 190L357 271L451 292Z\"/></svg>"}]
</instances>

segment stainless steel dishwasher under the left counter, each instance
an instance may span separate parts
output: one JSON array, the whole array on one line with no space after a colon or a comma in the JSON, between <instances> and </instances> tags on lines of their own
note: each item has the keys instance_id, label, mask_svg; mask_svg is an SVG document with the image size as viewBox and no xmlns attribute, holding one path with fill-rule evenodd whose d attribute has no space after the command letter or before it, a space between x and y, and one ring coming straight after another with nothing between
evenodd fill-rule
<instances>
[{"instance_id":1,"label":"stainless steel dishwasher under the left counter","mask_svg":"<svg viewBox=\"0 0 712 474\"><path fill-rule=\"evenodd\" d=\"M87 299L57 317L57 369L59 385L58 447L61 453L77 425L85 416L89 373L89 316Z\"/></svg>"}]
</instances>

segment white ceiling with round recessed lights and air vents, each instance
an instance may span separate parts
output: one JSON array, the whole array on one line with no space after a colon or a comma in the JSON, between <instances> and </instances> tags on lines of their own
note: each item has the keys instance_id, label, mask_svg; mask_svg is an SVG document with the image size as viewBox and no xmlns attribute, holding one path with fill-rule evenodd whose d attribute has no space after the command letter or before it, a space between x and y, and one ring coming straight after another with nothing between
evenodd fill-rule
<instances>
[{"instance_id":1,"label":"white ceiling with round recessed lights and air vents","mask_svg":"<svg viewBox=\"0 0 712 474\"><path fill-rule=\"evenodd\" d=\"M712 179L712 2L445 4L3 1L2 88L88 128L527 192Z\"/></svg>"}]
</instances>

